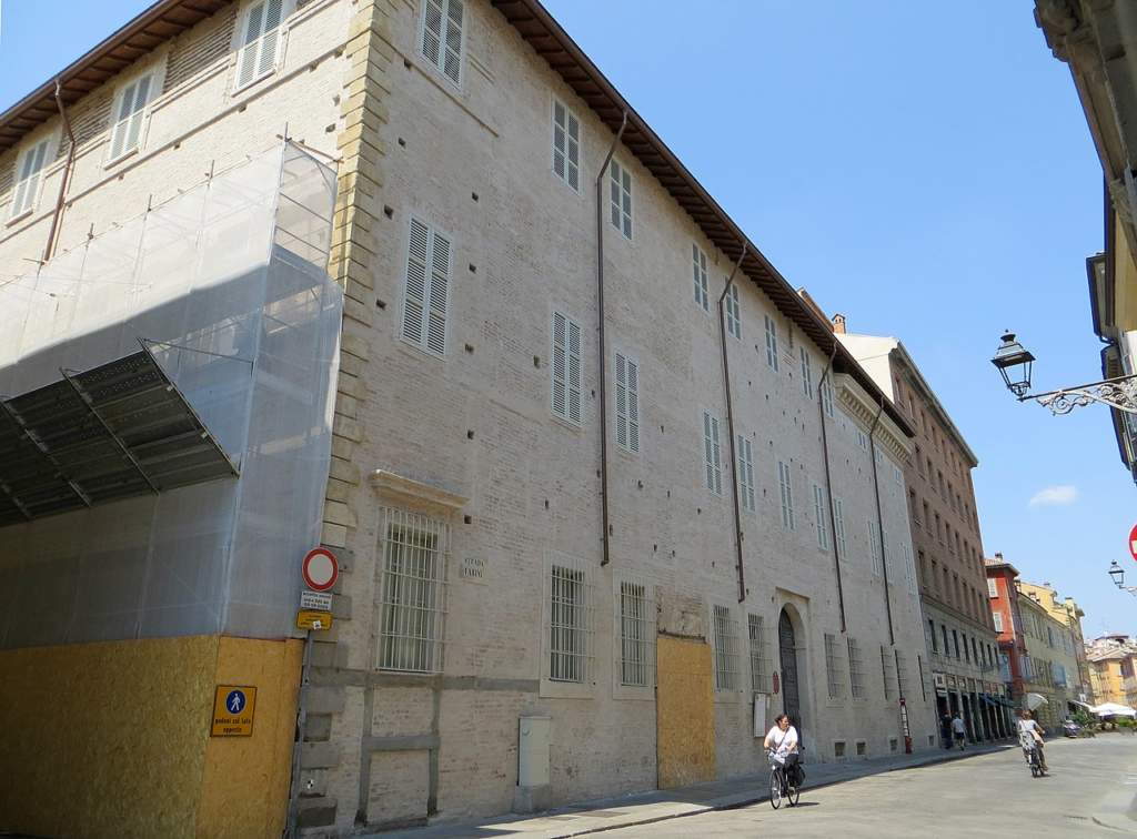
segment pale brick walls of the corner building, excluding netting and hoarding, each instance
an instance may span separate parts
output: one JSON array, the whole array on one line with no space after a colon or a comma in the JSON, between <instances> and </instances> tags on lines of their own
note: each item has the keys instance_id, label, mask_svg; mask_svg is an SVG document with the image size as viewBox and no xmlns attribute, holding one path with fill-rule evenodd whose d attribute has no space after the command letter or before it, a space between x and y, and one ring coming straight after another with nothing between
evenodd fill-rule
<instances>
[{"instance_id":1,"label":"pale brick walls of the corner building, excluding netting and hoarding","mask_svg":"<svg viewBox=\"0 0 1137 839\"><path fill-rule=\"evenodd\" d=\"M587 58L558 72L542 57L568 55L547 13L285 3L271 72L241 85L254 7L138 59L168 84L127 157L107 160L109 110L89 130L59 247L279 135L338 166L322 541L343 575L313 650L301 825L347 834L753 773L782 707L814 761L933 747L916 423L748 241L720 319L744 238L630 109L597 194L620 117L586 99L603 86ZM89 107L103 106L75 114ZM0 158L17 167L6 218L26 200L22 156L59 130L48 118ZM51 159L0 233L0 271L43 252L66 166ZM964 477L953 488L970 499ZM968 600L949 608L981 623Z\"/></svg>"}]
</instances>

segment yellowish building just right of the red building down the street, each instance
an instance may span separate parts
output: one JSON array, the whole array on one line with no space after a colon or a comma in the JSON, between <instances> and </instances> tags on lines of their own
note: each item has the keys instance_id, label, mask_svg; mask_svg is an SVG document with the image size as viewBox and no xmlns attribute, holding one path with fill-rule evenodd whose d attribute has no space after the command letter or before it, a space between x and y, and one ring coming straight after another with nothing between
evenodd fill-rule
<instances>
[{"instance_id":1,"label":"yellowish building just right of the red building down the street","mask_svg":"<svg viewBox=\"0 0 1137 839\"><path fill-rule=\"evenodd\" d=\"M1046 698L1034 708L1035 716L1049 729L1078 711L1085 692L1078 687L1078 658L1073 632L1055 618L1043 603L1040 587L1019 581L1019 614L1027 645L1023 690ZM1029 706L1031 703L1027 703Z\"/></svg>"}]
</instances>

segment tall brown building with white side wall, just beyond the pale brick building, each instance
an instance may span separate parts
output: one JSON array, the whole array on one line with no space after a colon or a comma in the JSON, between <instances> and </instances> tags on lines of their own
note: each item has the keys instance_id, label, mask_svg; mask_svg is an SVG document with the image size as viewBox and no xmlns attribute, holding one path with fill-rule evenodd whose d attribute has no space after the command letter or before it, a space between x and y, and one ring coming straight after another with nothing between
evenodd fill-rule
<instances>
[{"instance_id":1,"label":"tall brown building with white side wall, just beyond the pale brick building","mask_svg":"<svg viewBox=\"0 0 1137 839\"><path fill-rule=\"evenodd\" d=\"M833 325L918 432L904 483L938 714L961 711L972 740L999 737L996 634L971 483L979 462L901 341L848 333L841 315Z\"/></svg>"}]
</instances>

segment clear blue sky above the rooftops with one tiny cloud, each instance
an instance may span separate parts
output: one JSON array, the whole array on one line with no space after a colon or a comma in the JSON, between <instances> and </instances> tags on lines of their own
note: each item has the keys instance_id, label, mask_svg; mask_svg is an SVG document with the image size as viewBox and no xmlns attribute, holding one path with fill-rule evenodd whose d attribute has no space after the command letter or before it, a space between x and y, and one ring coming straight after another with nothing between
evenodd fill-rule
<instances>
[{"instance_id":1,"label":"clear blue sky above the rooftops with one tiny cloud","mask_svg":"<svg viewBox=\"0 0 1137 839\"><path fill-rule=\"evenodd\" d=\"M149 5L2 2L0 109ZM1137 633L1106 574L1137 584L1107 410L1019 405L988 360L1013 329L1036 389L1101 377L1102 171L1034 3L546 3L790 283L904 341L979 458L986 553L1074 597L1088 637Z\"/></svg>"}]
</instances>

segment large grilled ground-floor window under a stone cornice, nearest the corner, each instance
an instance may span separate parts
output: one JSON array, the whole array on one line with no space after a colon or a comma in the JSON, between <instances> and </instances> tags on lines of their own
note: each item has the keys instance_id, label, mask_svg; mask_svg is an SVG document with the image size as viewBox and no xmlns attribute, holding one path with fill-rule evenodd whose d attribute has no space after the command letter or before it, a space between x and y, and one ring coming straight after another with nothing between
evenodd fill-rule
<instances>
[{"instance_id":1,"label":"large grilled ground-floor window under a stone cornice, nearest the corner","mask_svg":"<svg viewBox=\"0 0 1137 839\"><path fill-rule=\"evenodd\" d=\"M450 529L438 520L383 509L379 668L439 673Z\"/></svg>"}]
</instances>

